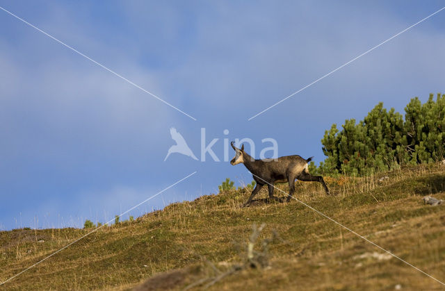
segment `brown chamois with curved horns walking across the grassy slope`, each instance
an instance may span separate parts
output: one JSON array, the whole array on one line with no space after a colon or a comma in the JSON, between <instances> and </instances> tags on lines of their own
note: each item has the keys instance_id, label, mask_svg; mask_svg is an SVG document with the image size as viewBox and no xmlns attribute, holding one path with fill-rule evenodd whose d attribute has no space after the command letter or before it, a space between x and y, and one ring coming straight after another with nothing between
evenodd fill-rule
<instances>
[{"instance_id":1,"label":"brown chamois with curved horns walking across the grassy slope","mask_svg":"<svg viewBox=\"0 0 445 291\"><path fill-rule=\"evenodd\" d=\"M282 156L277 159L264 159L255 160L248 153L244 151L244 144L241 149L234 147L234 142L230 143L235 150L235 157L230 161L232 165L238 165L243 163L246 168L252 173L255 182L255 186L252 194L244 206L250 206L253 197L258 194L259 190L263 188L265 184L268 186L268 192L270 199L277 200L277 197L273 196L273 185L275 183L289 183L289 196L286 202L291 200L293 192L295 192L295 180L300 181L317 181L323 185L326 194L329 195L329 189L327 189L326 183L322 176L312 176L307 169L307 163L312 160L313 157L305 160L300 156Z\"/></svg>"}]
</instances>

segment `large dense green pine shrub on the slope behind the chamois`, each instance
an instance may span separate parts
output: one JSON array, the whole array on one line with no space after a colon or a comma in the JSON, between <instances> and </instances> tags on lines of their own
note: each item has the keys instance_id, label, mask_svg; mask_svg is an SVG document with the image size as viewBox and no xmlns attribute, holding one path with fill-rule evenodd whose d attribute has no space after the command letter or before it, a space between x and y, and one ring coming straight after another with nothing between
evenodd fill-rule
<instances>
[{"instance_id":1,"label":"large dense green pine shrub on the slope behind the chamois","mask_svg":"<svg viewBox=\"0 0 445 291\"><path fill-rule=\"evenodd\" d=\"M445 156L445 94L433 95L426 103L418 97L405 107L405 118L383 103L358 124L346 119L342 129L332 124L321 140L327 158L312 174L368 175L400 165L442 160Z\"/></svg>"}]
</instances>

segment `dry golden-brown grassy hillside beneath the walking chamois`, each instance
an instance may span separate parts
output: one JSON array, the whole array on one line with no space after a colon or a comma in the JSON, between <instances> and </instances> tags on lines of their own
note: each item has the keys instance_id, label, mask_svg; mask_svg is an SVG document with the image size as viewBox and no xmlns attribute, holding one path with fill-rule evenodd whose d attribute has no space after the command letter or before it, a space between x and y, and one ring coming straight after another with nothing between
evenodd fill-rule
<instances>
[{"instance_id":1,"label":"dry golden-brown grassy hillside beneath the walking chamois","mask_svg":"<svg viewBox=\"0 0 445 291\"><path fill-rule=\"evenodd\" d=\"M437 164L366 178L327 178L336 197L327 197L318 183L297 182L296 193L301 201L445 281L445 205L424 205L421 200L427 194L445 199L444 169ZM379 181L382 176L389 178ZM286 185L279 188L287 191ZM208 195L101 228L0 288L444 288L298 201L266 203L261 200L267 196L263 189L257 202L242 208L249 194L245 189ZM275 195L284 197L277 190ZM255 249L270 238L264 267L243 267L253 224L265 224ZM0 281L87 232L0 232ZM228 270L234 271L226 274Z\"/></svg>"}]
</instances>

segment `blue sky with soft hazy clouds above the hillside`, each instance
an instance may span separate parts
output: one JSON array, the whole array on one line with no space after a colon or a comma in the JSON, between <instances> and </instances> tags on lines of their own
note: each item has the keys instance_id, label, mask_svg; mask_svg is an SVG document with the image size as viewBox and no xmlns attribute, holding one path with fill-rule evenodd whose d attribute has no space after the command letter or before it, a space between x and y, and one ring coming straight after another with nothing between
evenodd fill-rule
<instances>
[{"instance_id":1,"label":"blue sky with soft hazy clouds above the hillside","mask_svg":"<svg viewBox=\"0 0 445 291\"><path fill-rule=\"evenodd\" d=\"M0 229L104 222L217 192L242 165L172 154L170 127L200 157L200 128L275 138L279 155L324 159L331 124L379 101L403 112L445 92L445 10L248 121L442 8L441 1L0 1L176 110L0 10ZM228 135L223 135L225 129ZM248 150L248 148L247 148ZM232 149L230 150L232 156ZM124 217L125 219L126 217Z\"/></svg>"}]
</instances>

